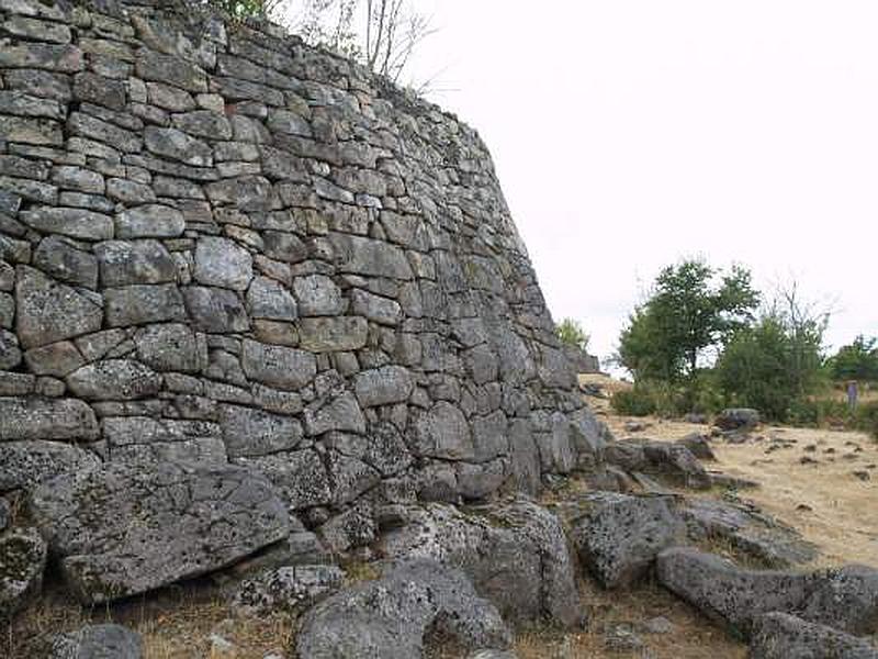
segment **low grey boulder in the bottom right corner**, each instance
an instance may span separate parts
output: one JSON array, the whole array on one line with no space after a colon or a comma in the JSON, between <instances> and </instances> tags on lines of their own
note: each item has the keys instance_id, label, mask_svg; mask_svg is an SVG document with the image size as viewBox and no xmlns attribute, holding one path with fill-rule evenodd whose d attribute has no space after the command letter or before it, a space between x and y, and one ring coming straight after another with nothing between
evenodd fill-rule
<instances>
[{"instance_id":1,"label":"low grey boulder in the bottom right corner","mask_svg":"<svg viewBox=\"0 0 878 659\"><path fill-rule=\"evenodd\" d=\"M750 659L878 659L865 639L786 613L756 618Z\"/></svg>"}]
</instances>

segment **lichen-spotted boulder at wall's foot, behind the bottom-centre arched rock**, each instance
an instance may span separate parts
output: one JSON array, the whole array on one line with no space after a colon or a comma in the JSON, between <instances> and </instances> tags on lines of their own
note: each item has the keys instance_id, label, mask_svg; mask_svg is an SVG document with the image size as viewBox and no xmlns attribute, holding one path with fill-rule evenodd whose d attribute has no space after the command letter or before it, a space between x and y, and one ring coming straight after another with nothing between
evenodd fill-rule
<instances>
[{"instance_id":1,"label":"lichen-spotted boulder at wall's foot, behind the bottom-centre arched rock","mask_svg":"<svg viewBox=\"0 0 878 659\"><path fill-rule=\"evenodd\" d=\"M382 551L462 569L476 591L515 624L583 622L573 559L561 522L518 499L470 512L428 504L385 512Z\"/></svg>"}]
</instances>

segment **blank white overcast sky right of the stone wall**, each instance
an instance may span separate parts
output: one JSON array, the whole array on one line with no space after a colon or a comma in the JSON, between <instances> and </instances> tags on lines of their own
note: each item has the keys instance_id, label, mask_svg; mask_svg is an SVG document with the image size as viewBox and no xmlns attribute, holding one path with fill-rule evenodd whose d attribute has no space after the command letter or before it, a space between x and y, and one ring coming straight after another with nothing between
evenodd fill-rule
<instances>
[{"instance_id":1,"label":"blank white overcast sky right of the stone wall","mask_svg":"<svg viewBox=\"0 0 878 659\"><path fill-rule=\"evenodd\" d=\"M417 0L416 0L417 1ZM606 356L701 255L878 334L878 2L420 0L431 98L476 127L555 320Z\"/></svg>"}]
</instances>

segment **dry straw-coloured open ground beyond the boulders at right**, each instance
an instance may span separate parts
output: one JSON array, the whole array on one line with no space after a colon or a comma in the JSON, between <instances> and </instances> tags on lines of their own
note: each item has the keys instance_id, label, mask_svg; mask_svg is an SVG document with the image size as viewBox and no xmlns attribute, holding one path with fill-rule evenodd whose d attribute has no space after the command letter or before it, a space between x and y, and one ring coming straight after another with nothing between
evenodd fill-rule
<instances>
[{"instance_id":1,"label":"dry straw-coloured open ground beyond the boulders at right","mask_svg":"<svg viewBox=\"0 0 878 659\"><path fill-rule=\"evenodd\" d=\"M599 376L583 379L603 381L607 391L626 387ZM588 403L618 439L675 440L710 432L707 425L618 416L605 400L588 398ZM629 433L628 422L648 427ZM759 483L742 496L814 543L822 554L814 566L878 566L878 442L874 438L846 431L764 426L750 442L716 439L712 448L717 462L707 467Z\"/></svg>"}]
</instances>

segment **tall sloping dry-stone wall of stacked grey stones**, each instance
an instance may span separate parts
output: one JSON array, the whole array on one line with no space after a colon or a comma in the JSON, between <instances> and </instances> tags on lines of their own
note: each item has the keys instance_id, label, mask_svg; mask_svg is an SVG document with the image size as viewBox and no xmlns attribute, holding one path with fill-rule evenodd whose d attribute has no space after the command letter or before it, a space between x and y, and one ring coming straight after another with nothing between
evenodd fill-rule
<instances>
[{"instance_id":1,"label":"tall sloping dry-stone wall of stacked grey stones","mask_svg":"<svg viewBox=\"0 0 878 659\"><path fill-rule=\"evenodd\" d=\"M0 31L7 446L250 466L324 527L594 462L473 130L190 4L0 0Z\"/></svg>"}]
</instances>

